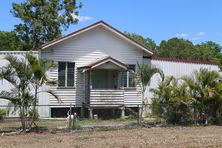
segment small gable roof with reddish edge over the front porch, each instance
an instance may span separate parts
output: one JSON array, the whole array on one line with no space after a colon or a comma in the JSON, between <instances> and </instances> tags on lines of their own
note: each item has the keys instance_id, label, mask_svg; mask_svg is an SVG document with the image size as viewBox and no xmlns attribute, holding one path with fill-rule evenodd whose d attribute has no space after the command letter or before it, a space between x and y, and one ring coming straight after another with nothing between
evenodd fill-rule
<instances>
[{"instance_id":1,"label":"small gable roof with reddish edge over the front porch","mask_svg":"<svg viewBox=\"0 0 222 148\"><path fill-rule=\"evenodd\" d=\"M85 66L78 67L78 69L84 69L84 68L86 68L86 69L93 69L93 68L96 68L96 67L98 67L100 65L106 64L108 62L111 62L111 63L117 65L118 67L120 67L120 68L122 68L124 70L128 69L128 66L126 64L123 64L122 62L120 62L120 61L118 61L118 60L116 60L116 59L114 59L114 58L112 58L110 56L98 59L98 60L96 60L96 61L94 61L92 63L89 63L89 64L85 65Z\"/></svg>"}]
</instances>

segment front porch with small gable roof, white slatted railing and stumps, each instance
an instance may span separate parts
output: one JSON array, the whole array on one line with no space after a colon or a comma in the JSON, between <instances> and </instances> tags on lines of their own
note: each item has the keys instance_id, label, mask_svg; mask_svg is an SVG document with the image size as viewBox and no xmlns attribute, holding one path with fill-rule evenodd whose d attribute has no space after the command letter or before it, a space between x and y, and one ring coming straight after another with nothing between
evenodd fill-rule
<instances>
[{"instance_id":1,"label":"front porch with small gable roof, white slatted railing and stumps","mask_svg":"<svg viewBox=\"0 0 222 148\"><path fill-rule=\"evenodd\" d=\"M118 109L124 117L125 108L142 103L134 80L135 65L107 57L79 69L85 78L85 107L91 119L95 109Z\"/></svg>"}]
</instances>

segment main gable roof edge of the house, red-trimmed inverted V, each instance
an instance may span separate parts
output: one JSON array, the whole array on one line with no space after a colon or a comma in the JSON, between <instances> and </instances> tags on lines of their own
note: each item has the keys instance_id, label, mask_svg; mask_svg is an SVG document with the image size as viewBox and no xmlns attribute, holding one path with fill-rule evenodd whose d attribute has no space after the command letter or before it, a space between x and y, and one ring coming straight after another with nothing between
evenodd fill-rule
<instances>
[{"instance_id":1,"label":"main gable roof edge of the house, red-trimmed inverted V","mask_svg":"<svg viewBox=\"0 0 222 148\"><path fill-rule=\"evenodd\" d=\"M43 44L43 45L40 47L40 49L48 48L48 47L50 47L50 46L52 46L52 45L55 45L55 44L57 44L57 43L60 43L60 42L62 42L62 41L64 41L64 40L67 40L67 39L69 39L69 38L72 38L72 37L74 37L74 36L76 36L76 35L78 35L78 34L81 34L81 33L83 33L83 32L86 32L86 31L88 31L88 30L91 30L91 29L93 29L93 28L95 28L95 27L97 27L97 26L103 26L103 27L105 27L106 29L110 30L111 32L117 34L117 35L120 36L121 38L125 39L125 40L128 41L129 43L131 43L131 44L133 44L134 46L138 47L139 49L142 49L143 51L145 51L145 52L147 52L147 53L149 53L149 54L153 54L153 50L148 49L148 48L145 47L144 45L138 43L138 42L135 41L134 39L130 38L130 37L127 36L126 34L122 33L121 31L117 30L116 28L110 26L109 24L105 23L104 21L96 22L96 23L91 24L91 25L89 25L89 26L87 26L87 27L84 27L84 28L79 29L79 30L77 30L77 31L75 31L75 32L72 32L72 33L70 33L70 34L68 34L68 35L65 35L65 36L63 36L63 37L60 37L60 38L55 39L55 40L53 40L53 41L50 41L50 42L48 42L48 43L45 43L45 44Z\"/></svg>"}]
</instances>

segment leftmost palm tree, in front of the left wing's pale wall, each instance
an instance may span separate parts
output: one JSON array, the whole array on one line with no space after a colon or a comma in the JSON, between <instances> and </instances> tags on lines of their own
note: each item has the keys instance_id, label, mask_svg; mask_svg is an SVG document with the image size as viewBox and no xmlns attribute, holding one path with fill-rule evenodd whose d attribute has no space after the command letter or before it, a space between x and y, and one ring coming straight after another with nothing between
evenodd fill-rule
<instances>
[{"instance_id":1,"label":"leftmost palm tree, in front of the left wing's pale wall","mask_svg":"<svg viewBox=\"0 0 222 148\"><path fill-rule=\"evenodd\" d=\"M0 69L0 79L6 80L12 88L0 92L0 98L11 101L15 107L19 108L22 131L26 132L26 117L30 103L34 99L34 96L30 93L31 85L29 83L32 77L32 71L25 62L25 59L18 59L10 55L6 56L5 59L9 64Z\"/></svg>"}]
</instances>

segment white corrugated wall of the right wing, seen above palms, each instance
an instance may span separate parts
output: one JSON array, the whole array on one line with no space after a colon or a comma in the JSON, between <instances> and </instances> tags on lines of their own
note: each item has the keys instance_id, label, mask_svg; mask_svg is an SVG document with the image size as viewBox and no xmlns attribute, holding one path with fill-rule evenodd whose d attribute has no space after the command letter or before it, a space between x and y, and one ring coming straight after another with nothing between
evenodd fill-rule
<instances>
[{"instance_id":1,"label":"white corrugated wall of the right wing, seen above palms","mask_svg":"<svg viewBox=\"0 0 222 148\"><path fill-rule=\"evenodd\" d=\"M210 64L194 64L185 62L175 62L175 61L164 61L164 60L154 60L154 59L144 59L144 63L147 65L155 66L160 68L165 76L174 76L179 78L181 76L191 76L194 71L200 68L207 68L210 71L219 71L217 65ZM158 74L154 75L151 79L150 84L146 88L145 97L147 97L148 102L151 103L151 98L153 94L149 91L151 88L156 88L160 82L160 77Z\"/></svg>"}]
</instances>

